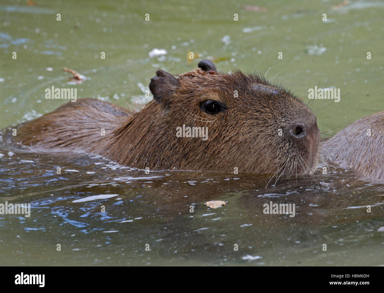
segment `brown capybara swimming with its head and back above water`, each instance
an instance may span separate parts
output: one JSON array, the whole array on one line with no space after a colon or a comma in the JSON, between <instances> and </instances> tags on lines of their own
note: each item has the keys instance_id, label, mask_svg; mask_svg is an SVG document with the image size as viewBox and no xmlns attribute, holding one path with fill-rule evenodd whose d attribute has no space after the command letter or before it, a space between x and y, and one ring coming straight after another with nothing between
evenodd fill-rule
<instances>
[{"instance_id":1,"label":"brown capybara swimming with its head and back above water","mask_svg":"<svg viewBox=\"0 0 384 293\"><path fill-rule=\"evenodd\" d=\"M177 77L158 70L154 99L127 110L78 99L17 128L32 151L103 155L125 166L311 174L319 158L316 117L290 92L256 74L218 73L208 60Z\"/></svg>"}]
</instances>

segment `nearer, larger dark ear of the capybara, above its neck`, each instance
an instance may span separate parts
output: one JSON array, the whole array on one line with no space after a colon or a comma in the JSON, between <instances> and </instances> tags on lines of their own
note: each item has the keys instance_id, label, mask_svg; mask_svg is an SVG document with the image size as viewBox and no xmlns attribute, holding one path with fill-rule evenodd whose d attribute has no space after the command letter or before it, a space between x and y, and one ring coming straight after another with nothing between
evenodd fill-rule
<instances>
[{"instance_id":1,"label":"nearer, larger dark ear of the capybara, above its neck","mask_svg":"<svg viewBox=\"0 0 384 293\"><path fill-rule=\"evenodd\" d=\"M167 102L177 86L179 86L179 81L172 74L159 69L156 71L156 76L151 78L149 90L155 100Z\"/></svg>"}]
</instances>

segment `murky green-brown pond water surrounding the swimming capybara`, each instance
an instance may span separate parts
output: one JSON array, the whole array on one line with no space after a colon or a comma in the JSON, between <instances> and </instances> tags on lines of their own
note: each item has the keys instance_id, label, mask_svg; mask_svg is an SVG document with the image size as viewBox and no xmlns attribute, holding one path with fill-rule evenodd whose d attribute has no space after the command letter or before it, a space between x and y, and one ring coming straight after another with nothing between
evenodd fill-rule
<instances>
[{"instance_id":1,"label":"murky green-brown pond water surrounding the swimming capybara","mask_svg":"<svg viewBox=\"0 0 384 293\"><path fill-rule=\"evenodd\" d=\"M340 88L341 102L313 102L314 111L329 104L316 116L332 135L384 110L384 2L334 9L339 2L260 1L255 11L231 1L2 1L0 128L63 104L44 98L47 87L68 87L62 67L88 77L71 85L78 98L126 106L150 100L157 68L183 73L211 58L222 71L262 71L306 101L308 88ZM154 48L167 54L150 58ZM31 211L0 215L1 265L384 262L384 185L350 170L266 186L269 178L254 174L146 174L95 156L28 153L7 140L0 137L0 204ZM210 200L227 204L210 209ZM295 204L295 216L264 214L270 202Z\"/></svg>"}]
</instances>

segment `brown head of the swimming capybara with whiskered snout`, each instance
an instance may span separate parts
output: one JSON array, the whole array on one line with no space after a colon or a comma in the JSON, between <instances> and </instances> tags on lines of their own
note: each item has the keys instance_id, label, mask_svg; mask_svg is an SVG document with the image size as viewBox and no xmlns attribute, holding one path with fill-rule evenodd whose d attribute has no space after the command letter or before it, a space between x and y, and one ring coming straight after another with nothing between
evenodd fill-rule
<instances>
[{"instance_id":1,"label":"brown head of the swimming capybara with whiskered snout","mask_svg":"<svg viewBox=\"0 0 384 293\"><path fill-rule=\"evenodd\" d=\"M218 73L203 60L198 69L177 77L159 69L149 89L161 107L161 152L172 154L178 168L276 178L311 174L316 168L320 132L315 115L257 74ZM199 129L207 130L205 137L199 137Z\"/></svg>"}]
</instances>

